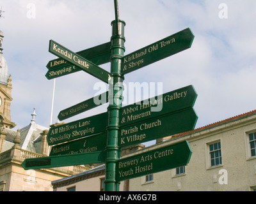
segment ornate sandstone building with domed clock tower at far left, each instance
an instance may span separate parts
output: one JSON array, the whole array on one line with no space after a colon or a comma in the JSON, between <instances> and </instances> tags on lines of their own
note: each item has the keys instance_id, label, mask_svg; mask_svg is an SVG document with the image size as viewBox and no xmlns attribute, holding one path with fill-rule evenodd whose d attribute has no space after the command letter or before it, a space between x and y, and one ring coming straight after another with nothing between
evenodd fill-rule
<instances>
[{"instance_id":1,"label":"ornate sandstone building with domed clock tower at far left","mask_svg":"<svg viewBox=\"0 0 256 204\"><path fill-rule=\"evenodd\" d=\"M28 126L14 130L10 106L12 78L3 56L3 32L0 31L0 191L52 191L52 180L63 179L88 170L69 166L49 170L25 171L24 159L49 155L46 136L49 128L36 124L36 113Z\"/></svg>"}]
</instances>

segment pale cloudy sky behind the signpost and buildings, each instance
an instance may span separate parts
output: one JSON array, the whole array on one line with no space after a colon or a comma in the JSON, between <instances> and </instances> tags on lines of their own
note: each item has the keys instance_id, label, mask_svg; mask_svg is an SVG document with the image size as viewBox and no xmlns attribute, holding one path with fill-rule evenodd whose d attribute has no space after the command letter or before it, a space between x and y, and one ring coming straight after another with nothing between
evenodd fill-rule
<instances>
[{"instance_id":1,"label":"pale cloudy sky behind the signpost and buildings","mask_svg":"<svg viewBox=\"0 0 256 204\"><path fill-rule=\"evenodd\" d=\"M34 107L36 124L49 127L61 110L104 91L97 89L97 78L83 71L57 78L51 117L54 80L45 74L47 63L56 59L48 52L49 40L73 52L110 41L113 0L1 0L0 6L15 129L31 122ZM196 128L255 110L255 10L255 0L119 0L120 19L126 23L125 55L187 27L195 35L191 48L125 75L125 84L163 83L163 93L193 85L198 94ZM110 71L110 63L100 67ZM103 105L64 122L107 108Z\"/></svg>"}]
</instances>

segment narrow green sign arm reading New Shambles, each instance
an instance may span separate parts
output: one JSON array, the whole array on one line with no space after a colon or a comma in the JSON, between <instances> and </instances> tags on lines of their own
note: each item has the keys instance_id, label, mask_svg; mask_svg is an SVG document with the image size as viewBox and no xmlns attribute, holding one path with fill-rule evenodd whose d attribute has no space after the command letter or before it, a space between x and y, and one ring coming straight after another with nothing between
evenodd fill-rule
<instances>
[{"instance_id":1,"label":"narrow green sign arm reading New Shambles","mask_svg":"<svg viewBox=\"0 0 256 204\"><path fill-rule=\"evenodd\" d=\"M58 119L61 121L68 119L70 117L73 117L74 115L78 115L80 113L86 112L88 110L91 110L92 108L103 105L105 103L108 103L108 92L105 92L91 99L83 101L82 103L79 103L70 108L62 110L58 115Z\"/></svg>"}]
</instances>

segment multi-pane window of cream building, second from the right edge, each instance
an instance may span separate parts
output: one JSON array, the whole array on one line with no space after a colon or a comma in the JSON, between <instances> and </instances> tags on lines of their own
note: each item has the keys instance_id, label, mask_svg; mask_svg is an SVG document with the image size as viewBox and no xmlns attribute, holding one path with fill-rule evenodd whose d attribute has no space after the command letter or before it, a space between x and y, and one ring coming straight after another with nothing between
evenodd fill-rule
<instances>
[{"instance_id":1,"label":"multi-pane window of cream building, second from the right edge","mask_svg":"<svg viewBox=\"0 0 256 204\"><path fill-rule=\"evenodd\" d=\"M221 144L220 142L212 143L209 145L210 149L210 161L211 167L218 166L222 164L221 158Z\"/></svg>"}]
</instances>

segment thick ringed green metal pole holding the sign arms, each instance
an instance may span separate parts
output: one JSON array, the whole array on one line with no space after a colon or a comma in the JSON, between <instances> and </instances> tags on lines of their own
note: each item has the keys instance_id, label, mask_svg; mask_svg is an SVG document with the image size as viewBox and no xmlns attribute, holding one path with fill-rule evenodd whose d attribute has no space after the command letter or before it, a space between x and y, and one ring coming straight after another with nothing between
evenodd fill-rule
<instances>
[{"instance_id":1,"label":"thick ringed green metal pole holding the sign arms","mask_svg":"<svg viewBox=\"0 0 256 204\"><path fill-rule=\"evenodd\" d=\"M120 159L118 147L119 112L122 107L124 76L121 75L121 62L125 52L124 27L125 22L115 20L111 23L113 34L111 37L111 82L109 82L109 119L108 144L106 147L106 180L105 191L119 191L119 182L116 182L116 164Z\"/></svg>"}]
</instances>

